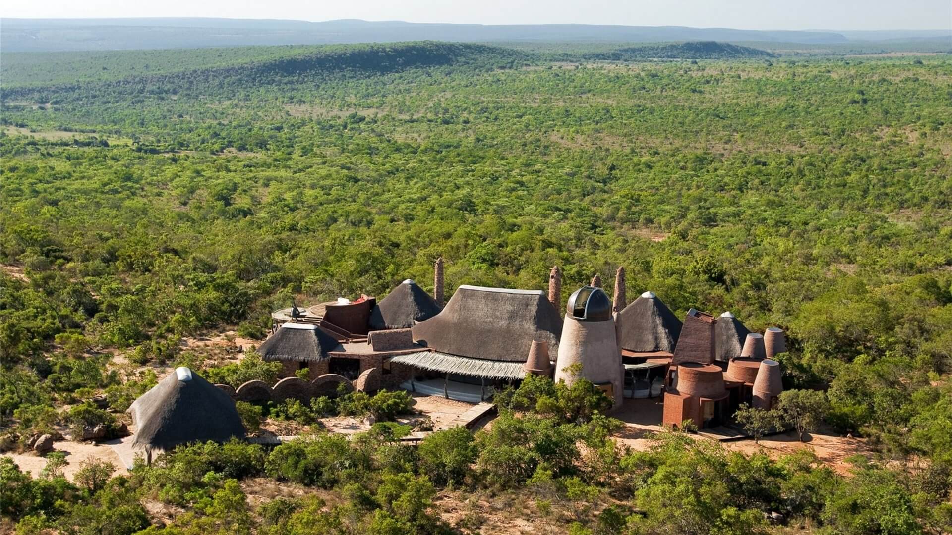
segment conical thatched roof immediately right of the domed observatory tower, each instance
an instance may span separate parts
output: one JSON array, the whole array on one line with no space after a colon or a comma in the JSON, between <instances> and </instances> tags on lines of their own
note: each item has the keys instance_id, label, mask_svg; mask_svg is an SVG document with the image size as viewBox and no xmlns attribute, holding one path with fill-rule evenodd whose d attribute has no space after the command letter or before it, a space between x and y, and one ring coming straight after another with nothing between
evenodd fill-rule
<instances>
[{"instance_id":1,"label":"conical thatched roof immediately right of the domed observatory tower","mask_svg":"<svg viewBox=\"0 0 952 535\"><path fill-rule=\"evenodd\" d=\"M673 353L681 336L681 320L650 291L618 313L618 324L619 344L639 353Z\"/></svg>"}]
</instances>

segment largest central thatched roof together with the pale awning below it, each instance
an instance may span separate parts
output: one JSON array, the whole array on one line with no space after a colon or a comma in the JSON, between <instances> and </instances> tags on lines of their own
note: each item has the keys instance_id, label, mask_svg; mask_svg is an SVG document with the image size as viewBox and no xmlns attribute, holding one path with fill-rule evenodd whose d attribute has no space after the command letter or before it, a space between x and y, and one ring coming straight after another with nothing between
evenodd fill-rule
<instances>
[{"instance_id":1,"label":"largest central thatched roof together with the pale awning below it","mask_svg":"<svg viewBox=\"0 0 952 535\"><path fill-rule=\"evenodd\" d=\"M461 286L436 316L412 328L428 351L391 362L481 379L523 379L533 342L546 342L555 361L562 318L545 292Z\"/></svg>"}]
</instances>

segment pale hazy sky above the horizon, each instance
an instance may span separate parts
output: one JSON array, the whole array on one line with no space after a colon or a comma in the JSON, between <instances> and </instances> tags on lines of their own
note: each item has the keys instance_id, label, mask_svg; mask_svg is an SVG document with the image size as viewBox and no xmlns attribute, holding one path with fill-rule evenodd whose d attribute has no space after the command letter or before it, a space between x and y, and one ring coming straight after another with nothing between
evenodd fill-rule
<instances>
[{"instance_id":1,"label":"pale hazy sky above the horizon","mask_svg":"<svg viewBox=\"0 0 952 535\"><path fill-rule=\"evenodd\" d=\"M952 0L6 0L30 18L342 18L479 24L585 23L744 30L952 28Z\"/></svg>"}]
</instances>

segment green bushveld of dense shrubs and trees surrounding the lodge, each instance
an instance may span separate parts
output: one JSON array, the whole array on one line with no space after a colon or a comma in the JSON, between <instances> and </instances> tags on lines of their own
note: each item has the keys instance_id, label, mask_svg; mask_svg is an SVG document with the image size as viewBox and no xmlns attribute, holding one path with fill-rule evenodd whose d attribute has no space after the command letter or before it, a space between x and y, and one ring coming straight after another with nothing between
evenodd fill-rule
<instances>
[{"instance_id":1,"label":"green bushveld of dense shrubs and trees surrounding the lodge","mask_svg":"<svg viewBox=\"0 0 952 535\"><path fill-rule=\"evenodd\" d=\"M446 527L431 504L451 485L530 490L578 532L760 532L766 511L830 533L952 528L948 56L149 53L104 54L106 74L96 56L5 65L5 429L111 424L80 402L106 391L121 410L156 378L107 368L103 349L178 362L191 358L183 337L226 325L260 337L295 297L426 287L442 256L450 292L542 288L559 265L565 300L596 273L610 291L625 266L630 296L784 327L785 386L825 389L826 424L866 437L873 458L843 477L804 455L745 457L678 433L625 451L584 390L530 382L511 398L526 415L504 410L472 442L437 434L419 451L381 429L269 454L191 446L79 486L4 460L5 522L131 533L149 525L148 499L188 510L150 532L412 533ZM146 56L154 71L131 69ZM238 382L274 369L205 372ZM347 499L249 505L235 480L262 474Z\"/></svg>"}]
</instances>

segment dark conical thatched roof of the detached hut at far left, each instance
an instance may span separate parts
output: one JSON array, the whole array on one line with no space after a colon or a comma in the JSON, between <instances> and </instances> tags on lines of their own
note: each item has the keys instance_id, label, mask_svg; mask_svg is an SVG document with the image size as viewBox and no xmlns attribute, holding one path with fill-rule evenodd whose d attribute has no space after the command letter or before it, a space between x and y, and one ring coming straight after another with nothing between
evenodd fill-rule
<instances>
[{"instance_id":1,"label":"dark conical thatched roof of the detached hut at far left","mask_svg":"<svg viewBox=\"0 0 952 535\"><path fill-rule=\"evenodd\" d=\"M129 406L132 447L168 451L189 442L244 437L245 426L228 394L188 367L178 367Z\"/></svg>"}]
</instances>

